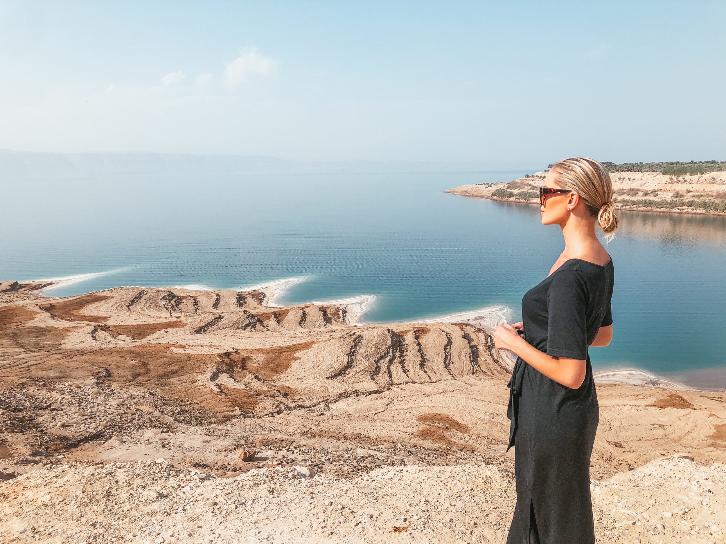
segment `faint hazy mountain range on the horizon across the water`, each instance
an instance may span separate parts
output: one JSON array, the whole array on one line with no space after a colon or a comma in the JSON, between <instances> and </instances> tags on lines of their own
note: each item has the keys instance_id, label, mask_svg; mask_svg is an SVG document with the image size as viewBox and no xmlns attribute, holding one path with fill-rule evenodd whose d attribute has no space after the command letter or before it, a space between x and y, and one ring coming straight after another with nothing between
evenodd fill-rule
<instances>
[{"instance_id":1,"label":"faint hazy mountain range on the horizon across the water","mask_svg":"<svg viewBox=\"0 0 726 544\"><path fill-rule=\"evenodd\" d=\"M0 150L0 178L404 173L526 170L515 165L436 161L302 161L181 153L33 153ZM535 170L536 168L531 168Z\"/></svg>"}]
</instances>

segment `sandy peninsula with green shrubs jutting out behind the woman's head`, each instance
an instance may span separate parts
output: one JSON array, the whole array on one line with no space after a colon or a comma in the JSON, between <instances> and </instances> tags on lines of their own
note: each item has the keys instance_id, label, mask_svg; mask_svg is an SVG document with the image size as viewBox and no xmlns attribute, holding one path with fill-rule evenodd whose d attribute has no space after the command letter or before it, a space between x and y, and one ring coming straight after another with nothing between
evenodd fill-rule
<instances>
[{"instance_id":1,"label":"sandy peninsula with green shrubs jutting out behind the woman's head","mask_svg":"<svg viewBox=\"0 0 726 544\"><path fill-rule=\"evenodd\" d=\"M603 162L619 210L726 214L726 162ZM549 170L500 184L469 184L444 191L465 197L539 205L537 187Z\"/></svg>"}]
</instances>

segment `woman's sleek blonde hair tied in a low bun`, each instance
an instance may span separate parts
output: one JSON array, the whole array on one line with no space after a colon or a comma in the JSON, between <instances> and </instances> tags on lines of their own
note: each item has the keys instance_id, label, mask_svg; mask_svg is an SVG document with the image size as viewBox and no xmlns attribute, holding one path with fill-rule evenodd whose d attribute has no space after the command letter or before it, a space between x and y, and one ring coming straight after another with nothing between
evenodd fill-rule
<instances>
[{"instance_id":1,"label":"woman's sleek blonde hair tied in a low bun","mask_svg":"<svg viewBox=\"0 0 726 544\"><path fill-rule=\"evenodd\" d=\"M597 226L609 237L618 228L618 216L613 203L613 182L608 170L595 159L573 157L552 165L555 180L563 189L576 191L597 218Z\"/></svg>"}]
</instances>

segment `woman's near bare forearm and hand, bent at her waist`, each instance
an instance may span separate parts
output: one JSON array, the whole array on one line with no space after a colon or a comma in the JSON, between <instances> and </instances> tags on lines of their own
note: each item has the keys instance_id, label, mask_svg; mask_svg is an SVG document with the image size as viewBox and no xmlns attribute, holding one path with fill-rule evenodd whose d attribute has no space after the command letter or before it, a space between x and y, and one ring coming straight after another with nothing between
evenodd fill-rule
<instances>
[{"instance_id":1,"label":"woman's near bare forearm and hand, bent at her waist","mask_svg":"<svg viewBox=\"0 0 726 544\"><path fill-rule=\"evenodd\" d=\"M517 323L518 324L518 323ZM608 327L602 327L607 329ZM611 328L612 332L612 328ZM504 323L494 329L494 347L499 350L510 350L529 363L544 376L555 380L570 389L577 389L585 379L585 361L581 359L569 359L566 357L555 358L539 351L523 339L515 328L509 323ZM600 337L598 332L597 337ZM596 338L597 340L597 338Z\"/></svg>"}]
</instances>

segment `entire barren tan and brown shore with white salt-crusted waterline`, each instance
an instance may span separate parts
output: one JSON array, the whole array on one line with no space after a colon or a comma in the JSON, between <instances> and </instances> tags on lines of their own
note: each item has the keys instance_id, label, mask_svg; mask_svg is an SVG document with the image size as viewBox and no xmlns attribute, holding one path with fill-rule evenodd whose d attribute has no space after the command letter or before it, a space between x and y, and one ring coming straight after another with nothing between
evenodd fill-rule
<instances>
[{"instance_id":1,"label":"entire barren tan and brown shore with white salt-crusted waterline","mask_svg":"<svg viewBox=\"0 0 726 544\"><path fill-rule=\"evenodd\" d=\"M366 323L370 297L282 305L290 280L52 283L0 284L8 542L503 542L505 308ZM601 377L599 541L724 542L726 393Z\"/></svg>"}]
</instances>

